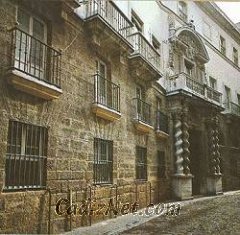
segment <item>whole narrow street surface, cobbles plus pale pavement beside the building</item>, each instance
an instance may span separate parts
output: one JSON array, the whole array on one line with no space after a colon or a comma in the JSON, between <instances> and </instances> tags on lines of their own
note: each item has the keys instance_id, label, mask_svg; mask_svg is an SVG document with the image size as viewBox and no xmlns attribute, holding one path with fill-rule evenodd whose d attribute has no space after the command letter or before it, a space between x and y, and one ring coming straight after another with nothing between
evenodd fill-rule
<instances>
[{"instance_id":1,"label":"whole narrow street surface, cobbles plus pale pavement beside the building","mask_svg":"<svg viewBox=\"0 0 240 235\"><path fill-rule=\"evenodd\" d=\"M174 203L174 202L173 202ZM68 235L238 235L240 234L240 191L226 192L214 197L199 197L180 203L179 215L163 213L150 216L128 214L80 227Z\"/></svg>"}]
</instances>

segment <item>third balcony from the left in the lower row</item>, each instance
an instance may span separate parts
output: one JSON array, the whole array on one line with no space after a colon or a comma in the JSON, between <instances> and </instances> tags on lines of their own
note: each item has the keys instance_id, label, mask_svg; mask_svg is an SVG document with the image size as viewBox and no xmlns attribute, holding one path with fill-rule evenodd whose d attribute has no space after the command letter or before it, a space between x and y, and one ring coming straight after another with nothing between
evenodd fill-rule
<instances>
[{"instance_id":1,"label":"third balcony from the left in the lower row","mask_svg":"<svg viewBox=\"0 0 240 235\"><path fill-rule=\"evenodd\" d=\"M145 101L135 98L135 127L138 131L149 133L153 127L151 126L151 105Z\"/></svg>"}]
</instances>

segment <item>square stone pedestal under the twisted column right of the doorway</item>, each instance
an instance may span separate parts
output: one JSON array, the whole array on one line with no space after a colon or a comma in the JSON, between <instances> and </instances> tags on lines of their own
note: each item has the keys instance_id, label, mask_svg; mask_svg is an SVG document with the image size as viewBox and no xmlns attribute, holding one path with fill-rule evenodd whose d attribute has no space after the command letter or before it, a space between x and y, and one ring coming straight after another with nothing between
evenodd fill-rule
<instances>
[{"instance_id":1,"label":"square stone pedestal under the twisted column right of the doorway","mask_svg":"<svg viewBox=\"0 0 240 235\"><path fill-rule=\"evenodd\" d=\"M207 194L222 194L222 175L213 175L207 177Z\"/></svg>"}]
</instances>

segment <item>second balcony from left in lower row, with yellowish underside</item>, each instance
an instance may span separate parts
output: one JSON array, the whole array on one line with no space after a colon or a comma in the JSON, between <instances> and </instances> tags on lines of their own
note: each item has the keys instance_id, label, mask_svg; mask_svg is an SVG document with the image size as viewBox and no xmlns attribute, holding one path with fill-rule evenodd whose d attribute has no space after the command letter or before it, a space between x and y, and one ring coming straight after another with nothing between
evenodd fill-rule
<instances>
[{"instance_id":1,"label":"second balcony from left in lower row, with yellowish underside","mask_svg":"<svg viewBox=\"0 0 240 235\"><path fill-rule=\"evenodd\" d=\"M120 119L120 87L99 74L94 75L93 112L108 121Z\"/></svg>"}]
</instances>

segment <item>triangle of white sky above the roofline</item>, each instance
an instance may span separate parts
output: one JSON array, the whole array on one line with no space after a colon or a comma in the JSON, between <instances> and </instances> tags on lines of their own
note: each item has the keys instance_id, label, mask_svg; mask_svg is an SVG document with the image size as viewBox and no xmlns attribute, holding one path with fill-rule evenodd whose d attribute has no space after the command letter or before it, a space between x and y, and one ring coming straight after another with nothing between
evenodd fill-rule
<instances>
[{"instance_id":1,"label":"triangle of white sky above the roofline","mask_svg":"<svg viewBox=\"0 0 240 235\"><path fill-rule=\"evenodd\" d=\"M224 13L233 21L240 22L240 2L215 2Z\"/></svg>"}]
</instances>

